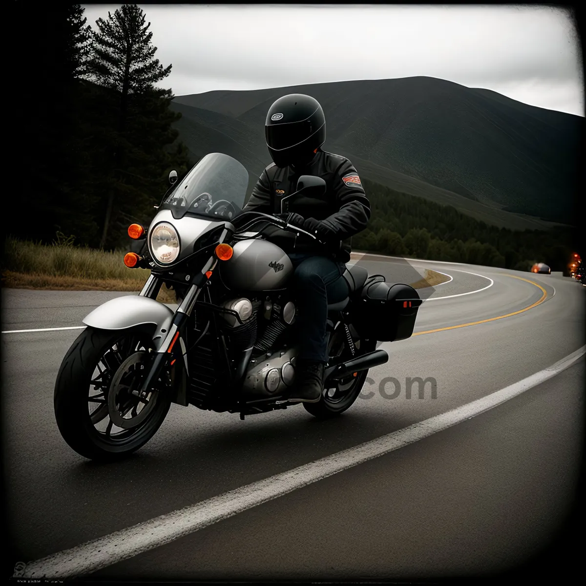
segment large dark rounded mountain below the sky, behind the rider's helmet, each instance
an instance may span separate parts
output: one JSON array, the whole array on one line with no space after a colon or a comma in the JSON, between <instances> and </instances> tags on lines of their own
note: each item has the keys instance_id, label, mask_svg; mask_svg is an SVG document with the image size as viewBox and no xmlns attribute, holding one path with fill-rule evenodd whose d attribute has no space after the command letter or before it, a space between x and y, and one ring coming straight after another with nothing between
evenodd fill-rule
<instances>
[{"instance_id":1,"label":"large dark rounded mountain below the sky, behind the rider's helmet","mask_svg":"<svg viewBox=\"0 0 586 586\"><path fill-rule=\"evenodd\" d=\"M268 107L287 93L320 101L328 124L326 150L377 165L389 180L400 173L428 183L430 193L442 188L493 210L572 220L583 119L493 91L408 77L212 91L176 97L174 107L237 119L241 128L256 130L255 140L263 145ZM374 179L369 169L363 175ZM472 209L482 213L482 207Z\"/></svg>"}]
</instances>

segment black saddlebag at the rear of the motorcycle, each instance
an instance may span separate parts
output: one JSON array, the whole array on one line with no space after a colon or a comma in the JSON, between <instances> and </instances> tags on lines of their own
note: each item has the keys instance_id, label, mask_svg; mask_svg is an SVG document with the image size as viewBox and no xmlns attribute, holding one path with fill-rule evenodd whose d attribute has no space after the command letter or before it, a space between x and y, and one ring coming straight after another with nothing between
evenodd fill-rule
<instances>
[{"instance_id":1,"label":"black saddlebag at the rear of the motorcycle","mask_svg":"<svg viewBox=\"0 0 586 586\"><path fill-rule=\"evenodd\" d=\"M353 325L367 339L404 340L413 333L421 303L410 285L387 283L383 275L372 275L353 304Z\"/></svg>"}]
</instances>

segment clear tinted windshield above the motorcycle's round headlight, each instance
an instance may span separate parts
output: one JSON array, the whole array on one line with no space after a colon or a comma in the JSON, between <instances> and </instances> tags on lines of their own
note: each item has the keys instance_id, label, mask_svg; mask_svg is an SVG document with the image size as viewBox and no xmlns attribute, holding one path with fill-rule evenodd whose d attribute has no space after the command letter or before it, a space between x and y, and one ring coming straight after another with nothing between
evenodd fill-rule
<instances>
[{"instance_id":1,"label":"clear tinted windshield above the motorcycle's round headlight","mask_svg":"<svg viewBox=\"0 0 586 586\"><path fill-rule=\"evenodd\" d=\"M248 171L231 156L213 152L203 157L178 183L161 209L173 217L186 213L231 220L240 213L248 187Z\"/></svg>"}]
</instances>

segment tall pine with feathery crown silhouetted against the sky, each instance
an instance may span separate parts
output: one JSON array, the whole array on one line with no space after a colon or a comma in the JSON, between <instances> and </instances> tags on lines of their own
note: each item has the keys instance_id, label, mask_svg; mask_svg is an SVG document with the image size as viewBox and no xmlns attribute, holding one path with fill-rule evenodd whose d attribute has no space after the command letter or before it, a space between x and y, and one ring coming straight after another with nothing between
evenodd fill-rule
<instances>
[{"instance_id":1,"label":"tall pine with feathery crown silhouetted against the sky","mask_svg":"<svg viewBox=\"0 0 586 586\"><path fill-rule=\"evenodd\" d=\"M154 85L169 75L171 65L163 67L159 60L155 59L157 47L152 46L152 32L149 31L151 23L145 25L145 15L137 5L124 4L114 12L114 15L108 12L107 20L100 18L96 24L99 31L94 34L93 56L88 62L88 76L98 85L114 90L119 96L116 128L118 138L114 145L110 173L114 176L119 195L122 198L130 198L127 199L127 202L130 202L141 195L141 183L144 186L144 183L148 184L151 179L147 176L147 162L150 157L145 153L144 147L138 146L141 141L137 140L136 132L128 128L129 117L134 110L132 114L135 120L142 118L142 121L145 121L144 116L141 116L141 110L148 110L152 105L152 98L157 92ZM171 94L171 90L167 90L164 97L158 94L158 98L164 101L168 94ZM163 126L166 124L170 127L171 121L163 123ZM164 137L167 130L165 128L162 131L163 136L161 132L151 135L151 142L158 141L152 148L162 149L168 144ZM146 137L147 133L143 130L141 138ZM138 167L144 168L145 173L138 172L137 168L130 171L129 167L135 166L133 163L138 163ZM105 205L101 247L108 242L115 195L115 189L111 188ZM124 205L124 200L121 199L121 202ZM137 203L142 207L139 202Z\"/></svg>"}]
</instances>

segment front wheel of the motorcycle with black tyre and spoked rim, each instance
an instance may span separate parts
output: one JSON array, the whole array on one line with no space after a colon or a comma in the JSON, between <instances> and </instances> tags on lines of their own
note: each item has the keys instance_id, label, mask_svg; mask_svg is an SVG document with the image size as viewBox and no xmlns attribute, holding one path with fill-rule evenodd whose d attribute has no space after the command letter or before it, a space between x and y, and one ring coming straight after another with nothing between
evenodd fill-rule
<instances>
[{"instance_id":1,"label":"front wheel of the motorcycle with black tyre and spoked rim","mask_svg":"<svg viewBox=\"0 0 586 586\"><path fill-rule=\"evenodd\" d=\"M144 399L132 394L153 350L152 332L144 326L88 327L70 347L57 374L53 406L63 439L78 454L102 461L123 458L161 426L171 405L168 373Z\"/></svg>"}]
</instances>

